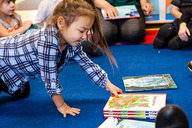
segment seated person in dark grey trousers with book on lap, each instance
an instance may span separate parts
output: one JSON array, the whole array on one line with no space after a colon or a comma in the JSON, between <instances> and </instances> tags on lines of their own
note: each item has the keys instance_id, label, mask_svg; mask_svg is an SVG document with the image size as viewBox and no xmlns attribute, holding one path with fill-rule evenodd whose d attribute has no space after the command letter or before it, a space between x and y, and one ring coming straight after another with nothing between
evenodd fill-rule
<instances>
[{"instance_id":1,"label":"seated person in dark grey trousers with book on lap","mask_svg":"<svg viewBox=\"0 0 192 128\"><path fill-rule=\"evenodd\" d=\"M119 39L128 43L143 41L145 32L145 15L153 14L153 6L148 0L95 0L95 6L105 11L105 15L113 19L118 16L116 6L135 5L140 17L129 19L104 20L100 11L100 21L104 36L109 45Z\"/></svg>"}]
</instances>

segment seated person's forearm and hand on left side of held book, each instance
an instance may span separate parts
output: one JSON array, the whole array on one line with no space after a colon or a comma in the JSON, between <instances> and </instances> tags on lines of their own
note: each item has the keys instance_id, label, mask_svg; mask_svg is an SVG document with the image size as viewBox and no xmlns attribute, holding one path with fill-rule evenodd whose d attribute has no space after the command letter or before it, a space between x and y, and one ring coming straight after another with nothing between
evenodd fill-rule
<instances>
[{"instance_id":1,"label":"seated person's forearm and hand on left side of held book","mask_svg":"<svg viewBox=\"0 0 192 128\"><path fill-rule=\"evenodd\" d=\"M106 0L94 0L94 3L96 7L105 10L105 17L108 16L109 18L114 19L114 17L118 16L117 9Z\"/></svg>"}]
</instances>

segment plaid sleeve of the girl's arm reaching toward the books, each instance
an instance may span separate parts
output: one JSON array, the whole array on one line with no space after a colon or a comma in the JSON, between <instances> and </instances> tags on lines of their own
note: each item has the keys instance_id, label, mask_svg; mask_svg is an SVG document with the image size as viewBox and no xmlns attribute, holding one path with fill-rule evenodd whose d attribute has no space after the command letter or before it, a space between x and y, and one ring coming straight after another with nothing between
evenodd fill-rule
<instances>
[{"instance_id":1,"label":"plaid sleeve of the girl's arm reaching toward the books","mask_svg":"<svg viewBox=\"0 0 192 128\"><path fill-rule=\"evenodd\" d=\"M105 87L107 84L107 73L101 67L93 63L87 54L82 51L82 46L79 46L79 51L73 59L80 65L82 70L89 76L92 82L100 87Z\"/></svg>"}]
</instances>

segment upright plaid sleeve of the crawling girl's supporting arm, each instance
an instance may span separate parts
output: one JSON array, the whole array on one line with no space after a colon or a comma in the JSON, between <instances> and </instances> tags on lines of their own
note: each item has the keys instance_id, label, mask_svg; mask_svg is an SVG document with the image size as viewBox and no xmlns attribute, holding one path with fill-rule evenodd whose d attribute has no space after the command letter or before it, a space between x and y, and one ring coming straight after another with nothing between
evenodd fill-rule
<instances>
[{"instance_id":1,"label":"upright plaid sleeve of the crawling girl's supporting arm","mask_svg":"<svg viewBox=\"0 0 192 128\"><path fill-rule=\"evenodd\" d=\"M54 37L41 37L41 43L38 43L38 56L40 74L45 88L49 95L61 94L62 86L58 80L56 59L59 54L59 48L52 43L57 41Z\"/></svg>"}]
</instances>

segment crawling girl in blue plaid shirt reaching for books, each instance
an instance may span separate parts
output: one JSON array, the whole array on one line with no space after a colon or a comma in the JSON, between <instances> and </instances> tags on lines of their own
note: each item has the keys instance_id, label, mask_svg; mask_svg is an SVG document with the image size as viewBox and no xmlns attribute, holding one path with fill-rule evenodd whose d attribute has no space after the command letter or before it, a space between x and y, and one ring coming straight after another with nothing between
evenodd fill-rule
<instances>
[{"instance_id":1,"label":"crawling girl in blue plaid shirt reaching for books","mask_svg":"<svg viewBox=\"0 0 192 128\"><path fill-rule=\"evenodd\" d=\"M64 102L61 95L63 88L58 80L58 73L69 59L73 59L96 85L105 87L118 97L122 90L113 85L105 71L82 51L80 42L86 39L90 31L92 40L99 42L96 46L102 47L110 62L116 64L101 32L93 1L88 2L63 0L56 6L47 27L0 39L0 76L5 83L0 84L0 87L7 87L10 94L19 90L17 95L26 95L28 87L25 87L25 83L41 76L58 111L64 117L67 114L75 116L80 113L80 109Z\"/></svg>"}]
</instances>

